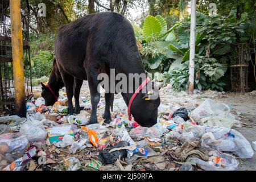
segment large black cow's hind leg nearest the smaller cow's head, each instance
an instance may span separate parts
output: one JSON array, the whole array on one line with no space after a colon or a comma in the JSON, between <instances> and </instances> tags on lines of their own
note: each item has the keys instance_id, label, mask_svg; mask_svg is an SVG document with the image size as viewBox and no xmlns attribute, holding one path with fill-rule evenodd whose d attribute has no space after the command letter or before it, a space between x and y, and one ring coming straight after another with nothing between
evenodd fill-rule
<instances>
[{"instance_id":1,"label":"large black cow's hind leg nearest the smaller cow's head","mask_svg":"<svg viewBox=\"0 0 256 182\"><path fill-rule=\"evenodd\" d=\"M72 102L72 98L73 98L73 84L74 84L74 77L63 74L61 75L65 88L66 88L66 92L67 92L67 97L68 97L68 113L70 115L74 114L74 108L73 108L73 102Z\"/></svg>"}]
</instances>

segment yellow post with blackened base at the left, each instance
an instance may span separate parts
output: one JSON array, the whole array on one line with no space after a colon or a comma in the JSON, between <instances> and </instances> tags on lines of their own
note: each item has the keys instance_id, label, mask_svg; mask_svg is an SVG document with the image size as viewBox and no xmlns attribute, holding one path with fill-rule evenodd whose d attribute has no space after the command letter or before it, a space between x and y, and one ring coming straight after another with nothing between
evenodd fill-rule
<instances>
[{"instance_id":1,"label":"yellow post with blackened base at the left","mask_svg":"<svg viewBox=\"0 0 256 182\"><path fill-rule=\"evenodd\" d=\"M19 117L26 117L26 93L24 87L23 39L20 0L10 0L10 16L15 109L16 114L19 115Z\"/></svg>"}]
</instances>

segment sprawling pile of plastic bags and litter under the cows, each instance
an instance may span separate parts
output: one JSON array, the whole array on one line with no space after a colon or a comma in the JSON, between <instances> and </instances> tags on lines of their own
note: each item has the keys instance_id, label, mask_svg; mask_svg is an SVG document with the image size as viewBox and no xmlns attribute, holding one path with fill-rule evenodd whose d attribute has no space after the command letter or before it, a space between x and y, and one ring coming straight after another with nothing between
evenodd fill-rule
<instances>
[{"instance_id":1,"label":"sprawling pile of plastic bags and litter under the cows","mask_svg":"<svg viewBox=\"0 0 256 182\"><path fill-rule=\"evenodd\" d=\"M61 94L53 106L43 98L27 103L27 118L0 118L0 170L236 170L254 155L237 130L239 121L224 103L205 100L197 107L161 104L158 122L148 128L129 121L122 98L115 99L112 122L87 125L90 100L80 114L68 115ZM227 153L228 152L228 153Z\"/></svg>"}]
</instances>

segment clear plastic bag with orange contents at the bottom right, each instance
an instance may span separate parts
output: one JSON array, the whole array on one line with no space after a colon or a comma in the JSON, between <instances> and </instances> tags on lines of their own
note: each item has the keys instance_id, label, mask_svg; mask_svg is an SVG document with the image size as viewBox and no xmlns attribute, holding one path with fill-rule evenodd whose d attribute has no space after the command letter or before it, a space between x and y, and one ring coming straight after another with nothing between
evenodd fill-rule
<instances>
[{"instance_id":1,"label":"clear plastic bag with orange contents at the bottom right","mask_svg":"<svg viewBox=\"0 0 256 182\"><path fill-rule=\"evenodd\" d=\"M218 154L217 156L210 157L209 161L192 157L187 162L196 163L197 166L204 169L205 171L234 171L238 167L238 161L232 155L229 154Z\"/></svg>"}]
</instances>

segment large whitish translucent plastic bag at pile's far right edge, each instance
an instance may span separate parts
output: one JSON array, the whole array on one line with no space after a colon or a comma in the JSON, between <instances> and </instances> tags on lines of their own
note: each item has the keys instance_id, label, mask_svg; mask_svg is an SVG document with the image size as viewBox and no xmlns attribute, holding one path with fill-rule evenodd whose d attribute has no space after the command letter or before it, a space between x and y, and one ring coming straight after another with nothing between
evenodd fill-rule
<instances>
[{"instance_id":1,"label":"large whitish translucent plastic bag at pile's far right edge","mask_svg":"<svg viewBox=\"0 0 256 182\"><path fill-rule=\"evenodd\" d=\"M254 154L251 144L237 130L225 127L205 127L208 133L201 138L201 145L224 152L233 152L241 159L251 158Z\"/></svg>"}]
</instances>

